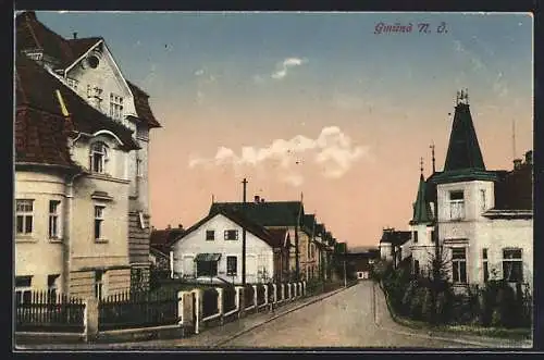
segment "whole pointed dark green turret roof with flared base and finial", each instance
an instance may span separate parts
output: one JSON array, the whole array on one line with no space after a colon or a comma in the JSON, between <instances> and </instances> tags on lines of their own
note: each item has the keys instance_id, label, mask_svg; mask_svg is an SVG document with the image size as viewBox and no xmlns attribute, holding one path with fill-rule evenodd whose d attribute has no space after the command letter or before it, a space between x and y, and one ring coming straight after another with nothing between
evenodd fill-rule
<instances>
[{"instance_id":1,"label":"whole pointed dark green turret roof with flared base and finial","mask_svg":"<svg viewBox=\"0 0 544 360\"><path fill-rule=\"evenodd\" d=\"M466 90L457 92L446 162L443 172L435 179L438 182L494 179L494 174L485 170Z\"/></svg>"}]
</instances>

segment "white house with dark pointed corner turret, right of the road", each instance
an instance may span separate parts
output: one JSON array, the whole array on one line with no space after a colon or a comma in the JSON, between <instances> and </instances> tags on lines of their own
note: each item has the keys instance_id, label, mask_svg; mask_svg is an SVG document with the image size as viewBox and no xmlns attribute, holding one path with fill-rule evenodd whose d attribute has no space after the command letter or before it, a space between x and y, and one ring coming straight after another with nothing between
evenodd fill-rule
<instances>
[{"instance_id":1,"label":"white house with dark pointed corner turret, right of the road","mask_svg":"<svg viewBox=\"0 0 544 360\"><path fill-rule=\"evenodd\" d=\"M532 151L511 171L485 169L468 96L459 92L444 170L420 179L410 222L415 270L428 266L437 229L454 284L505 278L532 287Z\"/></svg>"}]
</instances>

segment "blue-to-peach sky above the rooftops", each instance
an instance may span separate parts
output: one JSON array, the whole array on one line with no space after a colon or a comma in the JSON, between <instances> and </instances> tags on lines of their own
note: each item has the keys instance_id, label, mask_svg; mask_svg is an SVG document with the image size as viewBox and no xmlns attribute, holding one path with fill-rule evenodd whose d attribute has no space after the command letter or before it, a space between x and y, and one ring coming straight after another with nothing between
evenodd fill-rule
<instances>
[{"instance_id":1,"label":"blue-to-peach sky above the rooftops","mask_svg":"<svg viewBox=\"0 0 544 360\"><path fill-rule=\"evenodd\" d=\"M489 170L533 147L529 13L37 15L64 37L103 37L150 95L157 228L193 225L212 196L240 201L246 177L249 200L302 195L338 241L375 246L384 227L408 229L431 144L442 170L461 88Z\"/></svg>"}]
</instances>

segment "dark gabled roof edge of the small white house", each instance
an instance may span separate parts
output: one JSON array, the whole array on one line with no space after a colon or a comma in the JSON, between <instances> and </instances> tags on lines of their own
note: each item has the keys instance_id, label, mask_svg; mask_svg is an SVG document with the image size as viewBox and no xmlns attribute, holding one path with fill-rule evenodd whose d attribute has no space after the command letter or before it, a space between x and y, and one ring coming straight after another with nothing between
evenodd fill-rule
<instances>
[{"instance_id":1,"label":"dark gabled roof edge of the small white house","mask_svg":"<svg viewBox=\"0 0 544 360\"><path fill-rule=\"evenodd\" d=\"M281 248L281 247L285 246L284 245L285 244L285 236L282 237L282 233L279 233L279 232L271 233L270 229L267 229L263 226L261 226L261 225L255 223L254 221L249 220L248 218L244 216L238 210L232 210L232 209L226 209L226 208L211 209L210 213L206 218L203 218L202 220L197 222L195 225L187 228L182 236L180 236L175 239L175 241L189 235L190 233L193 233L194 231L196 231L197 228L199 228L200 226L206 224L208 221L215 218L218 214L221 214L221 215L230 219L231 221L233 221L234 223L236 223L240 227L245 228L247 232L254 234L255 236L257 236L261 240L269 244L272 248ZM283 234L285 234L285 233L283 233Z\"/></svg>"}]
</instances>

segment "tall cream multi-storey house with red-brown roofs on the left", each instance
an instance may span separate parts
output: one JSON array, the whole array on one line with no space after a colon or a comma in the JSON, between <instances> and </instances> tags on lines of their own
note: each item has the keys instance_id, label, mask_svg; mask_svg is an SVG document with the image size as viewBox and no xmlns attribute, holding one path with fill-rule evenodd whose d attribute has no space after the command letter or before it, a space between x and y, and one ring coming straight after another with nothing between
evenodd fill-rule
<instances>
[{"instance_id":1,"label":"tall cream multi-storey house with red-brown roofs on the left","mask_svg":"<svg viewBox=\"0 0 544 360\"><path fill-rule=\"evenodd\" d=\"M138 236L148 232L147 200L134 204L135 184L147 178L147 153L144 165L134 161L147 149L138 134L159 124L103 39L65 39L34 12L15 25L17 295L126 290L132 270L149 268L149 238L146 247L131 229L137 210ZM146 199L147 185L138 189Z\"/></svg>"}]
</instances>

